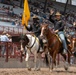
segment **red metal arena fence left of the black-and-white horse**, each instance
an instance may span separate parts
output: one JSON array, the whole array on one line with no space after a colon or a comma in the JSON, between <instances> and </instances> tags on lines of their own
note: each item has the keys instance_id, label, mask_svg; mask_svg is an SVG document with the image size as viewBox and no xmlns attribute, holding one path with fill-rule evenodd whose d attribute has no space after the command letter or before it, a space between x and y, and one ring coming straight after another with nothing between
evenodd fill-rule
<instances>
[{"instance_id":1,"label":"red metal arena fence left of the black-and-white horse","mask_svg":"<svg viewBox=\"0 0 76 75\"><path fill-rule=\"evenodd\" d=\"M5 46L4 55L2 55L3 46ZM6 62L8 62L9 58L20 58L20 62L22 62L20 44L18 42L0 42L0 57L5 58Z\"/></svg>"}]
</instances>

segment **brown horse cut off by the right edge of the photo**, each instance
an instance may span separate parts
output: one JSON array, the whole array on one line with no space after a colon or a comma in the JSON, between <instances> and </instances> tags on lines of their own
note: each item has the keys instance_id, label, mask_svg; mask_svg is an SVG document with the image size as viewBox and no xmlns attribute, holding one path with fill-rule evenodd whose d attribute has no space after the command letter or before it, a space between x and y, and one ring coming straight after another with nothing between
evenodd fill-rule
<instances>
[{"instance_id":1,"label":"brown horse cut off by the right edge of the photo","mask_svg":"<svg viewBox=\"0 0 76 75\"><path fill-rule=\"evenodd\" d=\"M71 53L71 59L70 59L70 64L75 64L76 63L76 34L74 35L68 35L68 49L72 52Z\"/></svg>"}]
</instances>

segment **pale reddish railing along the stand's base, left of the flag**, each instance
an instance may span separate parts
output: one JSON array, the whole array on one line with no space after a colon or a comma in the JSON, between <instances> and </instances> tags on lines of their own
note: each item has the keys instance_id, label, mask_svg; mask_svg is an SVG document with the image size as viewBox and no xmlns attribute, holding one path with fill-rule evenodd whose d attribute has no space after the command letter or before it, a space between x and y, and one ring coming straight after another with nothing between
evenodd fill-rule
<instances>
[{"instance_id":1,"label":"pale reddish railing along the stand's base, left of the flag","mask_svg":"<svg viewBox=\"0 0 76 75\"><path fill-rule=\"evenodd\" d=\"M23 27L0 26L0 34L2 34L3 31L6 31L11 35L19 35L25 32Z\"/></svg>"}]
</instances>

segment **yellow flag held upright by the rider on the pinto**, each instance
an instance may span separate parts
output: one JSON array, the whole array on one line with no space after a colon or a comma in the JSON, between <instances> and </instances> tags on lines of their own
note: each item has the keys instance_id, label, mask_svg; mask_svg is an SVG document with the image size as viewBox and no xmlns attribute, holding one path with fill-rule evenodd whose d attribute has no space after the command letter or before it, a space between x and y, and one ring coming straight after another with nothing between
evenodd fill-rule
<instances>
[{"instance_id":1,"label":"yellow flag held upright by the rider on the pinto","mask_svg":"<svg viewBox=\"0 0 76 75\"><path fill-rule=\"evenodd\" d=\"M24 1L24 10L23 10L23 16L22 16L22 25L28 25L28 21L30 19L30 10L28 6L28 1Z\"/></svg>"}]
</instances>

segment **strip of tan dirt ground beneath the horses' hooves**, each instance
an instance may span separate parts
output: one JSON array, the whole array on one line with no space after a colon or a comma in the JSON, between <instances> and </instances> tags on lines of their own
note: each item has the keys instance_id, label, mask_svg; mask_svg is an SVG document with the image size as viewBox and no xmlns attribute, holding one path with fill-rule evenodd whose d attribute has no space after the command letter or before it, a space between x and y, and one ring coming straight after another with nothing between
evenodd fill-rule
<instances>
[{"instance_id":1,"label":"strip of tan dirt ground beneath the horses' hooves","mask_svg":"<svg viewBox=\"0 0 76 75\"><path fill-rule=\"evenodd\" d=\"M0 75L76 75L76 67L55 68L52 72L48 68L41 68L40 71L28 71L26 68L0 68Z\"/></svg>"}]
</instances>

